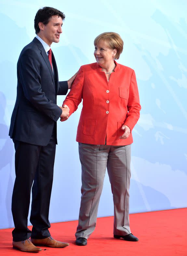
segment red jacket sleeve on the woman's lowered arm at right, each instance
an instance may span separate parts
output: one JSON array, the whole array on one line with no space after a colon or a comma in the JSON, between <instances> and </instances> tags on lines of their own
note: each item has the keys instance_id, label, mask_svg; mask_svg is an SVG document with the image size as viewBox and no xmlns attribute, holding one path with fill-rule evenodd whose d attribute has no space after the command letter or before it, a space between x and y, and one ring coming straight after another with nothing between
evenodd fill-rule
<instances>
[{"instance_id":1,"label":"red jacket sleeve on the woman's lowered arm at right","mask_svg":"<svg viewBox=\"0 0 187 256\"><path fill-rule=\"evenodd\" d=\"M138 92L138 86L136 82L136 75L133 70L131 81L130 81L130 87L129 87L129 97L128 97L128 103L127 103L127 119L124 123L124 125L127 125L130 130L134 128L135 124L138 122L138 119L140 117L140 100L139 100L139 92Z\"/></svg>"}]
</instances>

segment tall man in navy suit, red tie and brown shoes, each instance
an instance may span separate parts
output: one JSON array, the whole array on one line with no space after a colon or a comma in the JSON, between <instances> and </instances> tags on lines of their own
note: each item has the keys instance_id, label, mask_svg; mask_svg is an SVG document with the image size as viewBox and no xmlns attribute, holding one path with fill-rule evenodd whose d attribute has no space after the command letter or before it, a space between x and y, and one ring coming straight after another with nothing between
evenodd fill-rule
<instances>
[{"instance_id":1,"label":"tall man in navy suit, red tie and brown shoes","mask_svg":"<svg viewBox=\"0 0 187 256\"><path fill-rule=\"evenodd\" d=\"M69 109L57 106L56 99L57 95L67 93L76 76L59 82L50 49L52 42L60 40L64 18L62 12L52 7L39 9L34 19L37 35L23 48L17 64L17 98L9 136L14 141L16 170L12 195L13 248L21 251L40 251L35 245L60 248L69 245L53 239L48 230L56 122L69 115ZM27 228L31 188L32 232Z\"/></svg>"}]
</instances>

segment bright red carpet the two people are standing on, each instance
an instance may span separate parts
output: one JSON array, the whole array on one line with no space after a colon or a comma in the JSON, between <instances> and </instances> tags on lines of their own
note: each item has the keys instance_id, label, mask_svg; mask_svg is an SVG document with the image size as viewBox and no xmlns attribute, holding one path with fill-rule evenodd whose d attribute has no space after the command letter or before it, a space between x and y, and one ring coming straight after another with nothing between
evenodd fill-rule
<instances>
[{"instance_id":1,"label":"bright red carpet the two people are standing on","mask_svg":"<svg viewBox=\"0 0 187 256\"><path fill-rule=\"evenodd\" d=\"M131 231L139 237L138 242L113 238L113 217L98 218L94 233L87 246L75 245L77 221L51 225L51 235L60 241L69 242L63 249L45 248L36 255L184 255L187 256L187 208L130 215ZM0 230L0 255L32 255L12 249L12 229Z\"/></svg>"}]
</instances>

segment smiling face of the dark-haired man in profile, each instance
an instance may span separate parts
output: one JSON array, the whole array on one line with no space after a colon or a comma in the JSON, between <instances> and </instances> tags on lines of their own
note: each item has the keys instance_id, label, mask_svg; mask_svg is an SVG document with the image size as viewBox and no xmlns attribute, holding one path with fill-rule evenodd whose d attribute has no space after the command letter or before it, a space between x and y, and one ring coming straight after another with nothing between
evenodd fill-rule
<instances>
[{"instance_id":1,"label":"smiling face of the dark-haired man in profile","mask_svg":"<svg viewBox=\"0 0 187 256\"><path fill-rule=\"evenodd\" d=\"M47 25L42 24L40 28L42 39L50 46L53 42L60 41L60 34L62 33L62 18L60 16L52 16Z\"/></svg>"}]
</instances>

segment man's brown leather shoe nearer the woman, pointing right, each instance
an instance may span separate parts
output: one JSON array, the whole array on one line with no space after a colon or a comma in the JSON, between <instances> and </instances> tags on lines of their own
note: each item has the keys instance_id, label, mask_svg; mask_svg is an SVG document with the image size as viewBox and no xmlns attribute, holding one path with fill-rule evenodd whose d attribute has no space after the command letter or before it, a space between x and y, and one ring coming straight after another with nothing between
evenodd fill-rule
<instances>
[{"instance_id":1,"label":"man's brown leather shoe nearer the woman, pointing right","mask_svg":"<svg viewBox=\"0 0 187 256\"><path fill-rule=\"evenodd\" d=\"M63 247L66 247L69 245L68 243L63 243L63 242L57 241L57 240L53 239L51 236L48 236L47 238L44 238L44 239L31 238L31 241L34 245L37 245L37 246L63 248Z\"/></svg>"}]
</instances>

